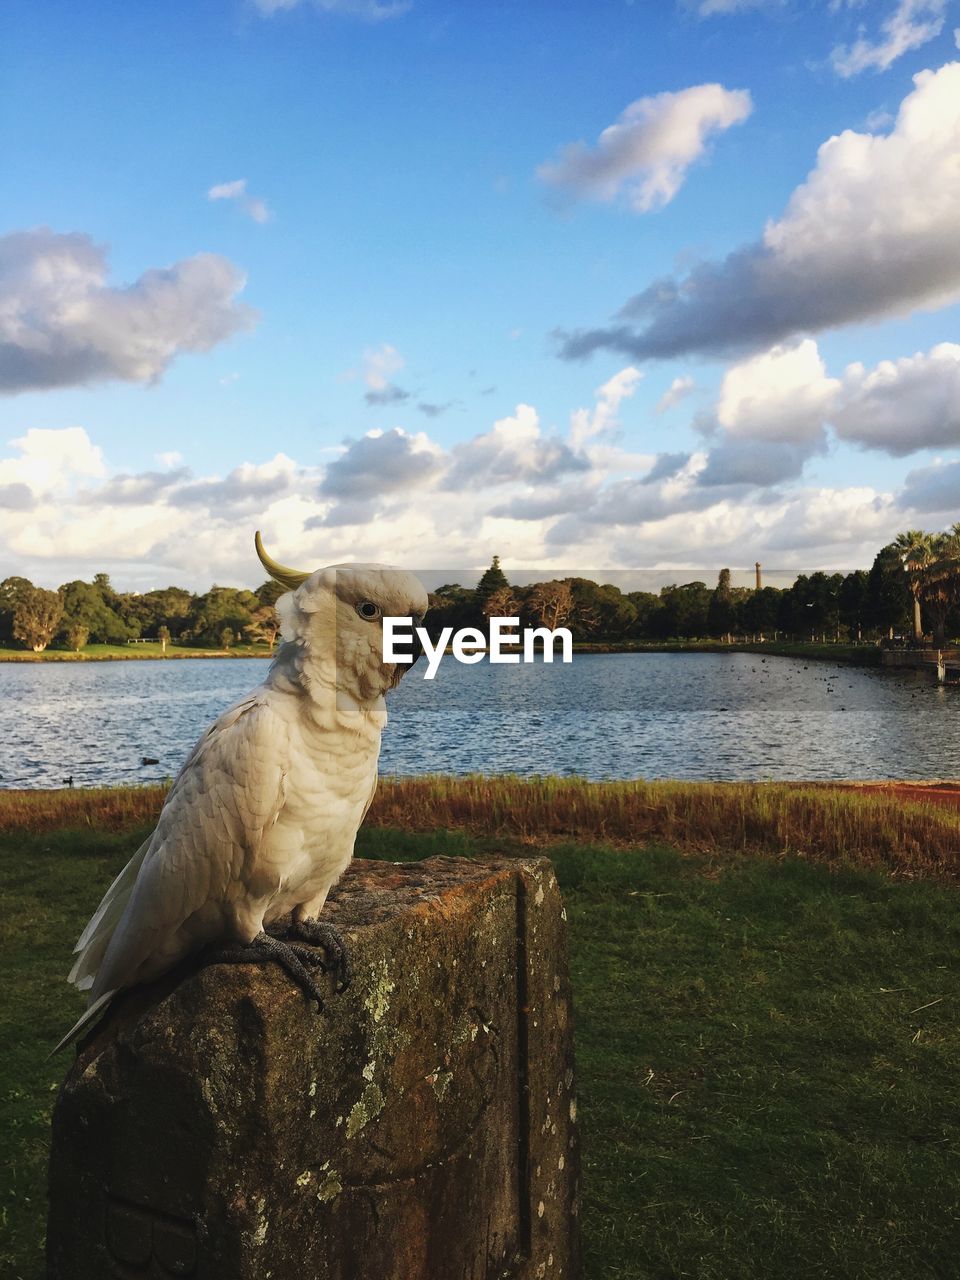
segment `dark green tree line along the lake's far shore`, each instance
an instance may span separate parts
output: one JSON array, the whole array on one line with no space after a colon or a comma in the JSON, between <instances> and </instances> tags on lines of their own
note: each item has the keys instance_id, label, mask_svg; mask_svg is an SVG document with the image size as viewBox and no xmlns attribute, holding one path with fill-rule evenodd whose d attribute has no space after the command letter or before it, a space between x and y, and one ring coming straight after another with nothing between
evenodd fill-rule
<instances>
[{"instance_id":1,"label":"dark green tree line along the lake's far shore","mask_svg":"<svg viewBox=\"0 0 960 1280\"><path fill-rule=\"evenodd\" d=\"M255 591L211 586L202 595L179 586L116 591L106 573L49 591L8 577L0 582L0 645L41 652L155 640L164 648L229 649L246 641L273 650L282 593L273 581ZM726 568L713 586L692 581L659 593L621 591L586 577L515 586L494 556L476 586L452 582L431 593L426 627L435 639L444 626L483 630L489 617L568 627L575 641L595 644L895 636L922 643L927 634L942 644L960 635L960 525L946 534L910 530L883 547L869 570L800 573L783 589L731 586Z\"/></svg>"}]
</instances>

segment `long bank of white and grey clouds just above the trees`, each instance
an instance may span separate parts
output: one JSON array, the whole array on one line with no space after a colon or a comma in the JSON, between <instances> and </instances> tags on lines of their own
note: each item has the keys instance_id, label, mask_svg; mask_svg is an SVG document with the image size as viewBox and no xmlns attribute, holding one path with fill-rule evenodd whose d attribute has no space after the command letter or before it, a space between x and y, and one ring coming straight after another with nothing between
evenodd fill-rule
<instances>
[{"instance_id":1,"label":"long bank of white and grey clouds just above the trees","mask_svg":"<svg viewBox=\"0 0 960 1280\"><path fill-rule=\"evenodd\" d=\"M0 577L56 585L106 570L124 588L252 585L262 576L257 527L278 558L303 568L466 566L494 553L547 571L754 559L847 567L869 563L914 521L905 512L922 522L924 512L956 511L960 462L950 460L911 472L899 494L804 486L804 462L822 439L800 371L824 404L832 380L815 349L767 357L742 361L721 388L703 447L657 457L611 440L639 381L632 366L598 387L566 433L521 403L452 449L426 431L371 431L324 465L278 453L196 477L187 457L131 474L111 467L82 428L33 429L0 456ZM943 358L934 348L924 367L940 378ZM902 375L901 362L893 367ZM870 372L833 380L841 389L829 412L847 393L877 396ZM792 420L782 416L791 397L806 406Z\"/></svg>"}]
</instances>

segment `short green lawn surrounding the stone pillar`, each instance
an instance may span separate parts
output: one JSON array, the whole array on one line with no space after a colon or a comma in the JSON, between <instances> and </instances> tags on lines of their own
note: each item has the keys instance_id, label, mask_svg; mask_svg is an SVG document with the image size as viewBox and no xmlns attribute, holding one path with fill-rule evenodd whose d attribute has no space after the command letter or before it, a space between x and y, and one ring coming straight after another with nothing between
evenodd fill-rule
<instances>
[{"instance_id":1,"label":"short green lawn surrounding the stone pillar","mask_svg":"<svg viewBox=\"0 0 960 1280\"><path fill-rule=\"evenodd\" d=\"M0 1274L19 1280L42 1276L64 1073L44 1056L78 1009L68 954L147 829L115 820L0 831ZM956 817L938 820L960 847ZM530 851L457 823L366 828L357 852ZM748 852L748 826L694 852L582 831L549 844L570 916L586 1277L956 1276L957 891Z\"/></svg>"}]
</instances>

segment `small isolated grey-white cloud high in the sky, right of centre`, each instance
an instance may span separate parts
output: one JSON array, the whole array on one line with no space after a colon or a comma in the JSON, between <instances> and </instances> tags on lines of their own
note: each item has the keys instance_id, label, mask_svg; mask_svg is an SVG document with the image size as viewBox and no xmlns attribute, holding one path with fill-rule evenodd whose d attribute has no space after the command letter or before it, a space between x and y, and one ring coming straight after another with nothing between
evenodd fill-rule
<instances>
[{"instance_id":1,"label":"small isolated grey-white cloud high in the sky, right of centre","mask_svg":"<svg viewBox=\"0 0 960 1280\"><path fill-rule=\"evenodd\" d=\"M753 110L746 90L696 84L640 97L605 128L594 147L572 142L538 177L573 196L611 201L621 192L639 214L669 204L708 138Z\"/></svg>"}]
</instances>

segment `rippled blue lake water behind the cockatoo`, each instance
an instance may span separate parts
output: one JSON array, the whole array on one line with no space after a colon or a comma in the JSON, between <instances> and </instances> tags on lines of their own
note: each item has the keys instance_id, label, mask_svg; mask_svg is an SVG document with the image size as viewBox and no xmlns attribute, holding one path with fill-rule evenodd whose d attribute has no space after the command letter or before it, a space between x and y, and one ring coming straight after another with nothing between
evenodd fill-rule
<instances>
[{"instance_id":1,"label":"rippled blue lake water behind the cockatoo","mask_svg":"<svg viewBox=\"0 0 960 1280\"><path fill-rule=\"evenodd\" d=\"M170 777L266 667L236 658L1 663L0 787ZM497 667L448 658L434 681L422 669L389 698L381 772L960 776L960 689L914 672L737 653Z\"/></svg>"}]
</instances>

